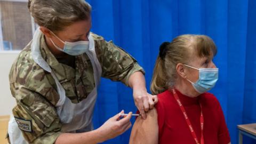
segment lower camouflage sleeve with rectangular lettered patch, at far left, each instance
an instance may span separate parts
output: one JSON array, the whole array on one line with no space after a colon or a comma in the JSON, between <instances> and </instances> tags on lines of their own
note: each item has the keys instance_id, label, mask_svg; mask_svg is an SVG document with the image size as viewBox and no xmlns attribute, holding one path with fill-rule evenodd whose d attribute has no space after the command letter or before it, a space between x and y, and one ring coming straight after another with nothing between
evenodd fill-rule
<instances>
[{"instance_id":1,"label":"lower camouflage sleeve with rectangular lettered patch, at far left","mask_svg":"<svg viewBox=\"0 0 256 144\"><path fill-rule=\"evenodd\" d=\"M14 88L17 106L12 112L23 137L29 143L54 143L61 134L60 119L54 106L26 86L16 84L11 87L11 90L18 87Z\"/></svg>"}]
</instances>

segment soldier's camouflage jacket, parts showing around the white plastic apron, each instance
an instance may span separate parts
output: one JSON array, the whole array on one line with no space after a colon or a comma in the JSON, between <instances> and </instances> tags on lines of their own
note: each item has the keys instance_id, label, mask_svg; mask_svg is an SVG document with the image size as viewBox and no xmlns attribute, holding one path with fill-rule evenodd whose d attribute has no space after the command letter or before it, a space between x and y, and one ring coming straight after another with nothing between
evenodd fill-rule
<instances>
[{"instance_id":1,"label":"soldier's camouflage jacket, parts showing around the white plastic apron","mask_svg":"<svg viewBox=\"0 0 256 144\"><path fill-rule=\"evenodd\" d=\"M102 77L128 85L131 74L135 71L144 73L131 55L113 42L92 35ZM31 57L30 45L31 42L20 52L10 70L11 92L17 101L12 112L16 121L23 122L23 125L28 122L29 129L22 129L22 125L18 125L29 143L54 143L61 134L61 122L54 107L59 94L52 75L39 67ZM47 48L43 36L40 51L65 89L66 97L73 103L86 99L95 86L92 64L87 55L75 56L75 68L60 63Z\"/></svg>"}]
</instances>

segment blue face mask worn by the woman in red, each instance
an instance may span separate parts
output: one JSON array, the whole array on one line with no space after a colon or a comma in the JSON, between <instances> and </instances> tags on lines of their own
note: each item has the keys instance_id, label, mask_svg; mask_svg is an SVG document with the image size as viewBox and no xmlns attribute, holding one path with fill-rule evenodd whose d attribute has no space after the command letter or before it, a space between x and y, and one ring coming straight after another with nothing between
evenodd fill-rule
<instances>
[{"instance_id":1,"label":"blue face mask worn by the woman in red","mask_svg":"<svg viewBox=\"0 0 256 144\"><path fill-rule=\"evenodd\" d=\"M185 64L184 64L185 65ZM188 65L185 65L190 68L194 68L199 70L199 79L196 81L196 83L193 83L189 81L194 87L194 89L198 93L204 93L206 91L209 91L214 87L215 83L218 81L218 74L219 69L218 68L195 68Z\"/></svg>"}]
</instances>

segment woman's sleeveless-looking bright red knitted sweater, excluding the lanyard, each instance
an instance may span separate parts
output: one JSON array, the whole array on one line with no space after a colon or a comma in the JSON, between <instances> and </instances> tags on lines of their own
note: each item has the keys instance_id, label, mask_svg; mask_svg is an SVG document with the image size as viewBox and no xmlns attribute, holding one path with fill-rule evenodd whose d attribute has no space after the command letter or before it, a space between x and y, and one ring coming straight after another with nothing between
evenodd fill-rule
<instances>
[{"instance_id":1,"label":"woman's sleeveless-looking bright red knitted sweater, excluding the lanyard","mask_svg":"<svg viewBox=\"0 0 256 144\"><path fill-rule=\"evenodd\" d=\"M229 132L219 101L211 93L203 93L196 98L190 98L175 90L185 107L188 118L196 132L197 139L201 139L200 115L202 105L204 115L204 143L230 142ZM195 144L180 107L173 97L172 91L158 94L155 106L158 114L159 143Z\"/></svg>"}]
</instances>

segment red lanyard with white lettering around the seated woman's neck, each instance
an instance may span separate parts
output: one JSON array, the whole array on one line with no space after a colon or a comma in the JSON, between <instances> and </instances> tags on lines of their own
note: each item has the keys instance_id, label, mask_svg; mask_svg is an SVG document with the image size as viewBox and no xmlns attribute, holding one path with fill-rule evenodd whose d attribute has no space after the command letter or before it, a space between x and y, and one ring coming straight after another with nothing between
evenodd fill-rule
<instances>
[{"instance_id":1,"label":"red lanyard with white lettering around the seated woman's neck","mask_svg":"<svg viewBox=\"0 0 256 144\"><path fill-rule=\"evenodd\" d=\"M178 94L175 92L174 89L172 89L172 93L173 93L173 95L174 95L174 98L177 100L178 105L180 106L180 109L181 109L181 111L182 111L182 113L183 113L184 118L186 119L186 122L187 122L187 124L188 124L189 130L190 130L190 132L191 132L191 134L192 134L194 140L196 141L196 144L199 144L198 139L197 139L197 137L196 137L196 133L195 133L195 131L194 131L194 129L193 129L193 127L192 127L190 121L189 121L187 112L186 112L185 108L183 107L183 105L182 105L182 103L181 103L181 101L180 101L180 99L179 99L179 97L178 97ZM200 103L200 107L201 107L201 116L200 116L200 123L201 123L201 144L204 144L204 135L203 135L203 130L204 130L204 116L203 116L203 111L202 111L201 103Z\"/></svg>"}]
</instances>

